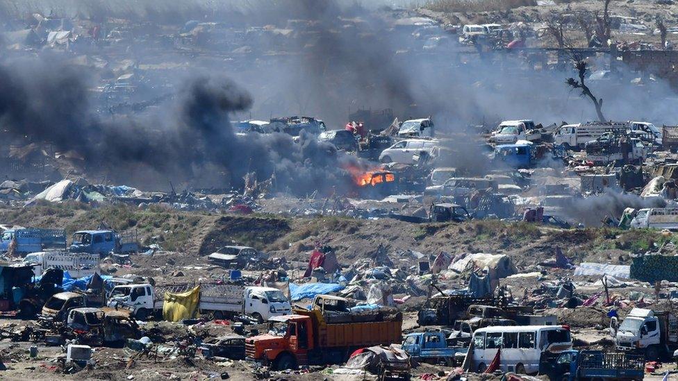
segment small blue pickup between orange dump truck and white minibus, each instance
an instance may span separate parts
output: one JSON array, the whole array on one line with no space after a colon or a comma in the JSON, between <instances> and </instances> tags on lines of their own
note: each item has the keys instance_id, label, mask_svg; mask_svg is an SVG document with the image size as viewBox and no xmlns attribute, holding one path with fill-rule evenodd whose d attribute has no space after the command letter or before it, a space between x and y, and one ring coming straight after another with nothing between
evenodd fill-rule
<instances>
[{"instance_id":1,"label":"small blue pickup between orange dump truck and white minibus","mask_svg":"<svg viewBox=\"0 0 678 381\"><path fill-rule=\"evenodd\" d=\"M443 332L419 332L405 336L403 350L418 362L456 366L457 355L466 355L467 347L450 346Z\"/></svg>"}]
</instances>

